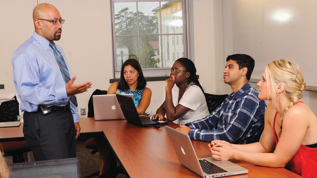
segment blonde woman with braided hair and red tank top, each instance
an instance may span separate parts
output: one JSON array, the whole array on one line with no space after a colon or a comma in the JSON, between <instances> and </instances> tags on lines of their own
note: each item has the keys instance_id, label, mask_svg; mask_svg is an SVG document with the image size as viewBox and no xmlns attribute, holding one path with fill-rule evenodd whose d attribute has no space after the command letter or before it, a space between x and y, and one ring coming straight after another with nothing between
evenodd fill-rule
<instances>
[{"instance_id":1,"label":"blonde woman with braided hair and red tank top","mask_svg":"<svg viewBox=\"0 0 317 178\"><path fill-rule=\"evenodd\" d=\"M265 66L259 98L271 101L265 111L261 142L236 145L214 140L208 145L217 160L236 159L267 167L285 167L303 177L317 177L317 118L301 101L301 68L284 59Z\"/></svg>"}]
</instances>

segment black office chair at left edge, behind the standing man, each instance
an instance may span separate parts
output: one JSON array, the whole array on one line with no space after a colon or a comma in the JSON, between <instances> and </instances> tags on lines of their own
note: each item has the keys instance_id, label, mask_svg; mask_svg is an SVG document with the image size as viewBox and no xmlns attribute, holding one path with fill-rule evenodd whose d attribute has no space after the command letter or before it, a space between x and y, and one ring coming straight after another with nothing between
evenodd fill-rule
<instances>
[{"instance_id":1,"label":"black office chair at left edge, behind the standing man","mask_svg":"<svg viewBox=\"0 0 317 178\"><path fill-rule=\"evenodd\" d=\"M5 101L0 105L0 122L17 121L19 115L19 102L14 100ZM23 154L31 151L26 141L1 142L4 156L11 156L13 163L25 162Z\"/></svg>"}]
</instances>

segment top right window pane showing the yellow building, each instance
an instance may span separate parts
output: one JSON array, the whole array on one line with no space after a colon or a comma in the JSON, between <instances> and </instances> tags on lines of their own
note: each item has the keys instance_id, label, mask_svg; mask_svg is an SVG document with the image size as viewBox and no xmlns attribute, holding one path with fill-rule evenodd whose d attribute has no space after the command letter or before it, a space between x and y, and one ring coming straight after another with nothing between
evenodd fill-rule
<instances>
[{"instance_id":1,"label":"top right window pane showing the yellow building","mask_svg":"<svg viewBox=\"0 0 317 178\"><path fill-rule=\"evenodd\" d=\"M161 13L162 34L183 33L183 9L181 1L161 2Z\"/></svg>"}]
</instances>

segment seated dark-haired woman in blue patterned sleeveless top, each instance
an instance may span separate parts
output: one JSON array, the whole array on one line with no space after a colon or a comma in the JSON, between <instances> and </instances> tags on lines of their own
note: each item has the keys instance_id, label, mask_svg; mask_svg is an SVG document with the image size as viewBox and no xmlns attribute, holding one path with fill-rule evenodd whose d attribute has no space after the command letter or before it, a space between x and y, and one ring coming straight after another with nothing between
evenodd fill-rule
<instances>
[{"instance_id":1,"label":"seated dark-haired woman in blue patterned sleeveless top","mask_svg":"<svg viewBox=\"0 0 317 178\"><path fill-rule=\"evenodd\" d=\"M145 113L150 105L152 91L146 88L146 81L137 60L128 59L122 64L119 82L112 83L107 92L107 95L113 94L133 94L138 113Z\"/></svg>"}]
</instances>

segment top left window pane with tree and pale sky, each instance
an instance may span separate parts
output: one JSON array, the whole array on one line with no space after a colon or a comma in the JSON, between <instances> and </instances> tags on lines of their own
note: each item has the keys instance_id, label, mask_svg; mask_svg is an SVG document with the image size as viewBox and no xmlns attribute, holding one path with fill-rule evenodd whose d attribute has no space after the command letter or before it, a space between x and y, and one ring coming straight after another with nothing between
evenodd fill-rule
<instances>
[{"instance_id":1,"label":"top left window pane with tree and pale sky","mask_svg":"<svg viewBox=\"0 0 317 178\"><path fill-rule=\"evenodd\" d=\"M137 35L137 4L114 3L116 35Z\"/></svg>"}]
</instances>

